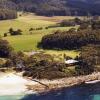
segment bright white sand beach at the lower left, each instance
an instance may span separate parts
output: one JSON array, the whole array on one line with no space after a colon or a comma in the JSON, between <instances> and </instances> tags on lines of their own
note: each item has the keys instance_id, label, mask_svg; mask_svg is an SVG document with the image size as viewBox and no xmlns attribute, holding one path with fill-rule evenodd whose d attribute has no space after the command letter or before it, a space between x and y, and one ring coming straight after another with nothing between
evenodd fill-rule
<instances>
[{"instance_id":1,"label":"bright white sand beach at the lower left","mask_svg":"<svg viewBox=\"0 0 100 100\"><path fill-rule=\"evenodd\" d=\"M14 73L0 77L0 95L16 95L27 92L29 80Z\"/></svg>"}]
</instances>

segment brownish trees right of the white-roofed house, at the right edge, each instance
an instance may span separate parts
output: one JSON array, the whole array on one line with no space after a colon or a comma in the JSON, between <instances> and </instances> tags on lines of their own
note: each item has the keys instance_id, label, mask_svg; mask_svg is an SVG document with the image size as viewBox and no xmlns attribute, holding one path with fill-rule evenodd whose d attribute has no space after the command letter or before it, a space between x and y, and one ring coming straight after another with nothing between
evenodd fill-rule
<instances>
[{"instance_id":1,"label":"brownish trees right of the white-roofed house, at the right edge","mask_svg":"<svg viewBox=\"0 0 100 100\"><path fill-rule=\"evenodd\" d=\"M81 49L80 64L76 66L78 74L91 74L100 65L100 45L88 45Z\"/></svg>"}]
</instances>

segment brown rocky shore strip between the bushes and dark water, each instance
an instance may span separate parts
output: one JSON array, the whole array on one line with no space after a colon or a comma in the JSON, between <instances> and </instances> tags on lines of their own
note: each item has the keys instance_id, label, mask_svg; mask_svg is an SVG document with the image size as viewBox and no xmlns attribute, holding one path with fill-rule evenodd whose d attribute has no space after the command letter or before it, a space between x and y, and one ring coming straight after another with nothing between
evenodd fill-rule
<instances>
[{"instance_id":1,"label":"brown rocky shore strip between the bushes and dark water","mask_svg":"<svg viewBox=\"0 0 100 100\"><path fill-rule=\"evenodd\" d=\"M37 93L42 93L50 90L58 90L61 88L67 88L74 85L81 85L81 84L95 84L100 82L100 72L92 73L90 75L85 76L77 76L77 77L69 77L69 78L62 78L56 80L37 80L46 86L41 84L36 85L27 85L29 90L36 91Z\"/></svg>"}]
</instances>

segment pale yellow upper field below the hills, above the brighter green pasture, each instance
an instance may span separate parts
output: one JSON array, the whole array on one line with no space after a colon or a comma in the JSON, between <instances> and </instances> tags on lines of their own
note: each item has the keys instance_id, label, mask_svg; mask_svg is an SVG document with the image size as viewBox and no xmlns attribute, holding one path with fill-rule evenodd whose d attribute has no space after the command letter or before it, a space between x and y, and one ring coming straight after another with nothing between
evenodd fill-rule
<instances>
[{"instance_id":1,"label":"pale yellow upper field below the hills, above the brighter green pasture","mask_svg":"<svg viewBox=\"0 0 100 100\"><path fill-rule=\"evenodd\" d=\"M51 18L51 19L50 19ZM56 19L57 18L57 19ZM0 35L3 36L4 33L7 33L10 28L13 29L21 29L23 31L23 34L30 34L29 29L30 28L40 28L42 27L42 30L34 30L32 33L51 33L55 30L68 30L69 27L56 27L56 28L50 28L45 29L45 27L50 25L55 25L57 22L55 22L54 19L57 21L66 19L67 17L43 17L43 16L22 16L15 20L4 20L0 21Z\"/></svg>"}]
</instances>

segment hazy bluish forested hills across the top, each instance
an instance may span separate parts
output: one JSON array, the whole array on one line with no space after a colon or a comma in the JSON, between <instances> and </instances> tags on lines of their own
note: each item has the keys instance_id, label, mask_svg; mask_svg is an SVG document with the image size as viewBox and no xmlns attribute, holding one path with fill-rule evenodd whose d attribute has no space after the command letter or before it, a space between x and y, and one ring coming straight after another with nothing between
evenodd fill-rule
<instances>
[{"instance_id":1,"label":"hazy bluish forested hills across the top","mask_svg":"<svg viewBox=\"0 0 100 100\"><path fill-rule=\"evenodd\" d=\"M0 7L38 15L100 15L98 0L0 0Z\"/></svg>"}]
</instances>

